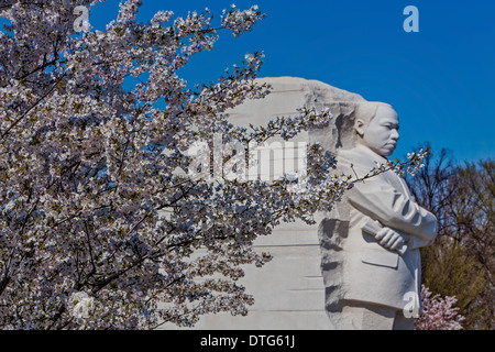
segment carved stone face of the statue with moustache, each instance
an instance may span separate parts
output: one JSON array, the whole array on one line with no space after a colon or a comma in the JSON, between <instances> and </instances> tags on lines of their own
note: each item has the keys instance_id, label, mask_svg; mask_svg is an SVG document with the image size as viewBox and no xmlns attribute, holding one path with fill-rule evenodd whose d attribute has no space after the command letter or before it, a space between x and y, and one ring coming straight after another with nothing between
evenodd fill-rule
<instances>
[{"instance_id":1,"label":"carved stone face of the statue with moustache","mask_svg":"<svg viewBox=\"0 0 495 352\"><path fill-rule=\"evenodd\" d=\"M382 156L394 153L399 139L398 129L397 112L386 105L378 106L370 122L358 119L355 124L359 142Z\"/></svg>"}]
</instances>

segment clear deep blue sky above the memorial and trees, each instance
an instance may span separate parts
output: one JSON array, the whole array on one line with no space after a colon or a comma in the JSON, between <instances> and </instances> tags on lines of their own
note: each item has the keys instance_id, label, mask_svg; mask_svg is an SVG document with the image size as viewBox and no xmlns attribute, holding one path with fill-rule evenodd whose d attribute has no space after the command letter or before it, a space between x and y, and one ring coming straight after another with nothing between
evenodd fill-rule
<instances>
[{"instance_id":1,"label":"clear deep blue sky above the memorial and trees","mask_svg":"<svg viewBox=\"0 0 495 352\"><path fill-rule=\"evenodd\" d=\"M262 77L317 79L393 105L400 119L394 156L427 141L458 161L495 156L495 1L143 0L139 20L208 7L218 21L232 2L257 4L267 16L239 38L220 33L216 48L183 70L188 81L216 80L245 53L264 51ZM102 30L118 3L92 8L91 25ZM418 33L403 29L410 4L419 10Z\"/></svg>"}]
</instances>

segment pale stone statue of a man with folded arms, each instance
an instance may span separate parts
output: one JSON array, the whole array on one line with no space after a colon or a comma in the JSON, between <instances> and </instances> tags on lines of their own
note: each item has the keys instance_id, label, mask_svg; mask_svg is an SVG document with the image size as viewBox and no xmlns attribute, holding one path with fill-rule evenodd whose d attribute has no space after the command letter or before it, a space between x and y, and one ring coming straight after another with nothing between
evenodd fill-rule
<instances>
[{"instance_id":1,"label":"pale stone statue of a man with folded arms","mask_svg":"<svg viewBox=\"0 0 495 352\"><path fill-rule=\"evenodd\" d=\"M355 103L355 145L338 151L338 172L362 178L386 164L398 129L389 105ZM436 217L393 170L346 191L319 230L326 309L336 329L413 329L408 312L420 305L419 248L436 233Z\"/></svg>"}]
</instances>

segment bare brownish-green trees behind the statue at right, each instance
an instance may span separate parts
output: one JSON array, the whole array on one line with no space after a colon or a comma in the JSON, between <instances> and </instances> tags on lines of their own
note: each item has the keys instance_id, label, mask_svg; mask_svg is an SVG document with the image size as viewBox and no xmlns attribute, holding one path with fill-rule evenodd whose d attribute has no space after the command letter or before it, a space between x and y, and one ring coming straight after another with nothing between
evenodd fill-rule
<instances>
[{"instance_id":1,"label":"bare brownish-green trees behind the statue at right","mask_svg":"<svg viewBox=\"0 0 495 352\"><path fill-rule=\"evenodd\" d=\"M439 235L421 249L422 284L455 296L465 329L495 328L495 161L455 165L431 154L407 179L417 201L439 219Z\"/></svg>"}]
</instances>

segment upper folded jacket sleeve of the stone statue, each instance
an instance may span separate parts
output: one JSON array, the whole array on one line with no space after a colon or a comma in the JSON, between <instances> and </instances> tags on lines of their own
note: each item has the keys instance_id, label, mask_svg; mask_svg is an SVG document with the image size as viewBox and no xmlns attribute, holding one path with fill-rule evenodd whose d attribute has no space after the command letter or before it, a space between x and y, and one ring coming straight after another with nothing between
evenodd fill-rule
<instances>
[{"instance_id":1,"label":"upper folded jacket sleeve of the stone statue","mask_svg":"<svg viewBox=\"0 0 495 352\"><path fill-rule=\"evenodd\" d=\"M370 218L414 237L411 244L415 248L431 244L437 235L437 218L381 175L355 183L346 197L354 208Z\"/></svg>"}]
</instances>

